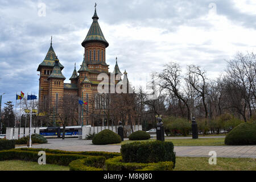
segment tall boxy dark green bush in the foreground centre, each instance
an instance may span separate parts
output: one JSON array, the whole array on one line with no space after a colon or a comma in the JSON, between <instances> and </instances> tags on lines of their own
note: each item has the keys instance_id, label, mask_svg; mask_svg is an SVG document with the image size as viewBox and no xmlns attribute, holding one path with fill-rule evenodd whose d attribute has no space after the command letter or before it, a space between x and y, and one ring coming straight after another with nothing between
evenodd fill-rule
<instances>
[{"instance_id":1,"label":"tall boxy dark green bush in the foreground centre","mask_svg":"<svg viewBox=\"0 0 256 182\"><path fill-rule=\"evenodd\" d=\"M171 161L175 167L175 152L172 142L133 142L122 144L121 155L126 163L157 163Z\"/></svg>"}]
</instances>

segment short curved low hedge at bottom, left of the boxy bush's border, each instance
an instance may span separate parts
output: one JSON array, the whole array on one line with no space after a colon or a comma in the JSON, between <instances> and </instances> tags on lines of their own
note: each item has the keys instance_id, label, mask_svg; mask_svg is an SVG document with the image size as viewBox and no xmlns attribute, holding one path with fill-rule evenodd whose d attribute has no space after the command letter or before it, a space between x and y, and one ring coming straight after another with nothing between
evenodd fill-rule
<instances>
[{"instance_id":1,"label":"short curved low hedge at bottom, left of the boxy bush's border","mask_svg":"<svg viewBox=\"0 0 256 182\"><path fill-rule=\"evenodd\" d=\"M104 156L88 156L69 163L70 171L103 171L106 158Z\"/></svg>"}]
</instances>

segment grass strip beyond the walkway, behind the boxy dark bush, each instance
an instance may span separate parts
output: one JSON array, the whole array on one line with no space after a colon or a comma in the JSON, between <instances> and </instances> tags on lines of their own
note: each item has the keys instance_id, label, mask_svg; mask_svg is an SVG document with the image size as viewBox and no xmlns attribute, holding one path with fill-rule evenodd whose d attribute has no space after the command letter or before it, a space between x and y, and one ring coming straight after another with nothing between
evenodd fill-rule
<instances>
[{"instance_id":1,"label":"grass strip beyond the walkway, behind the boxy dark bush","mask_svg":"<svg viewBox=\"0 0 256 182\"><path fill-rule=\"evenodd\" d=\"M165 139L167 142L174 143L174 146L224 146L225 138L199 138L199 139ZM121 145L125 143L131 142L148 142L154 141L156 139L148 139L148 140L124 140L121 143L113 144L113 145Z\"/></svg>"}]
</instances>

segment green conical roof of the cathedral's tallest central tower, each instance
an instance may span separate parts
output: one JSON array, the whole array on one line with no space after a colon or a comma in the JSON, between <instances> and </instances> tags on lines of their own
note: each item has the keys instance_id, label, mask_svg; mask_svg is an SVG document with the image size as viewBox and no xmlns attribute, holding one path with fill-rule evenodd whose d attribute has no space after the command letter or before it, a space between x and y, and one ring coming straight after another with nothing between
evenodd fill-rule
<instances>
[{"instance_id":1,"label":"green conical roof of the cathedral's tallest central tower","mask_svg":"<svg viewBox=\"0 0 256 182\"><path fill-rule=\"evenodd\" d=\"M108 47L109 43L104 38L104 35L101 31L101 27L98 24L98 16L96 13L96 9L94 11L94 15L93 15L92 19L93 19L92 25L90 26L90 29L88 31L88 34L86 35L86 38L82 42L82 47L85 46L86 42L90 42L90 41L100 41L100 42L105 43L106 47Z\"/></svg>"}]
</instances>

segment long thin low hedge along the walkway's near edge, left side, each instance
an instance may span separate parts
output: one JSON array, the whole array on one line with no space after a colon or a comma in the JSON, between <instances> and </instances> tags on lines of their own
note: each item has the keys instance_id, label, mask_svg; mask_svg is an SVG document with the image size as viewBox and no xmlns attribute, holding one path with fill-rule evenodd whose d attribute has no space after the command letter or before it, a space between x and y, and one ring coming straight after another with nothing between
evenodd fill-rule
<instances>
[{"instance_id":1,"label":"long thin low hedge along the walkway's near edge, left side","mask_svg":"<svg viewBox=\"0 0 256 182\"><path fill-rule=\"evenodd\" d=\"M76 154L76 155L104 156L106 159L114 158L115 156L121 155L118 152L97 152L97 151L73 152L73 151L53 150L48 148L15 148L14 150L34 151L34 152L45 151L48 154Z\"/></svg>"}]
</instances>

